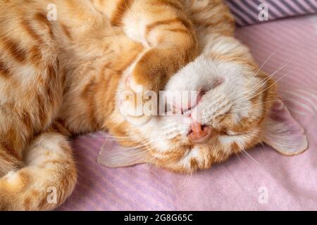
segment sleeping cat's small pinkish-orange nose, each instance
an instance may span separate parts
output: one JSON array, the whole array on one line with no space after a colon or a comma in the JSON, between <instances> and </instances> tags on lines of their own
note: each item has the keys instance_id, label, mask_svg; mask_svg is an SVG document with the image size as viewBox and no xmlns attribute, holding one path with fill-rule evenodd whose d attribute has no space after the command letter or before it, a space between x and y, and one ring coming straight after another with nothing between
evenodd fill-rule
<instances>
[{"instance_id":1,"label":"sleeping cat's small pinkish-orange nose","mask_svg":"<svg viewBox=\"0 0 317 225\"><path fill-rule=\"evenodd\" d=\"M203 143L211 136L211 127L201 126L198 122L190 124L188 138L194 143Z\"/></svg>"}]
</instances>

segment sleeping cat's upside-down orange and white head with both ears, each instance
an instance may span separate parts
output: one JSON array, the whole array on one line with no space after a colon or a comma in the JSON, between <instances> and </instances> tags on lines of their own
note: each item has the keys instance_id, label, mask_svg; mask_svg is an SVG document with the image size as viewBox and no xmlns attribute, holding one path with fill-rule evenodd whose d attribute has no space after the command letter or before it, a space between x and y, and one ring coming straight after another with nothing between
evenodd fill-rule
<instances>
[{"instance_id":1,"label":"sleeping cat's upside-down orange and white head with both ears","mask_svg":"<svg viewBox=\"0 0 317 225\"><path fill-rule=\"evenodd\" d=\"M121 167L150 162L193 172L261 142L286 155L307 148L302 128L277 97L275 82L253 63L248 49L230 37L212 43L166 85L164 98L196 91L182 104L169 104L181 113L133 126L129 133L139 148L106 152L101 163Z\"/></svg>"}]
</instances>

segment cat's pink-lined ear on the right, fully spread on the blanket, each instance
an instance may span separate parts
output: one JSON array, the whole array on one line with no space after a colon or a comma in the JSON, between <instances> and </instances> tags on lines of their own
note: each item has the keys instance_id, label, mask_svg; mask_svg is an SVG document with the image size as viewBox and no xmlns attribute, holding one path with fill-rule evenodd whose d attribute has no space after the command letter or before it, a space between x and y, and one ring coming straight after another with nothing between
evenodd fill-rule
<instances>
[{"instance_id":1,"label":"cat's pink-lined ear on the right, fully spread on the blanket","mask_svg":"<svg viewBox=\"0 0 317 225\"><path fill-rule=\"evenodd\" d=\"M264 122L262 140L284 155L297 155L308 148L304 129L280 99L274 102Z\"/></svg>"}]
</instances>

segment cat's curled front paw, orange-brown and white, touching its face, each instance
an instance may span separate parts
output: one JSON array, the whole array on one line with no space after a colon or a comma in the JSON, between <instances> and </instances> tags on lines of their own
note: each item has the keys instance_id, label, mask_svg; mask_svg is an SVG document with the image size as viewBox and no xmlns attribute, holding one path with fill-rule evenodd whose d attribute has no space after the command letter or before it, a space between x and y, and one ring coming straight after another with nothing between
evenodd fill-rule
<instances>
[{"instance_id":1,"label":"cat's curled front paw, orange-brown and white, touching its face","mask_svg":"<svg viewBox=\"0 0 317 225\"><path fill-rule=\"evenodd\" d=\"M120 112L132 124L145 124L158 113L159 91L165 86L169 72L173 71L163 56L161 49L146 51L125 74Z\"/></svg>"}]
</instances>

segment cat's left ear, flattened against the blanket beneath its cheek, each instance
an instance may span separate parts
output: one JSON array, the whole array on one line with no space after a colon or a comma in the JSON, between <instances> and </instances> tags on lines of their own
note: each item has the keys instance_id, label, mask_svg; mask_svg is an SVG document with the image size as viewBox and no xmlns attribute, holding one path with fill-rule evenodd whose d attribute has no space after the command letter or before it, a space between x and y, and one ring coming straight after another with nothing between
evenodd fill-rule
<instances>
[{"instance_id":1,"label":"cat's left ear, flattened against the blanket beneath its cheek","mask_svg":"<svg viewBox=\"0 0 317 225\"><path fill-rule=\"evenodd\" d=\"M130 167L147 162L147 153L137 148L125 148L116 145L101 149L97 162L105 167Z\"/></svg>"}]
</instances>

